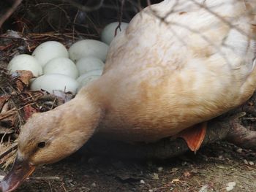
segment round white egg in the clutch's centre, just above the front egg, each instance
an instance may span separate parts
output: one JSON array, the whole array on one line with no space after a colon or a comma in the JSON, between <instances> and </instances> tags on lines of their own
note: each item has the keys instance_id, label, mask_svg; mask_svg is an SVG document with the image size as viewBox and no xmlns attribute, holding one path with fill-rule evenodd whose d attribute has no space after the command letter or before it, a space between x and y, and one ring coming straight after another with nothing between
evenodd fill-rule
<instances>
[{"instance_id":1,"label":"round white egg in the clutch's centre, just above the front egg","mask_svg":"<svg viewBox=\"0 0 256 192\"><path fill-rule=\"evenodd\" d=\"M65 74L73 79L78 78L78 68L69 58L53 58L45 64L43 74Z\"/></svg>"}]
</instances>

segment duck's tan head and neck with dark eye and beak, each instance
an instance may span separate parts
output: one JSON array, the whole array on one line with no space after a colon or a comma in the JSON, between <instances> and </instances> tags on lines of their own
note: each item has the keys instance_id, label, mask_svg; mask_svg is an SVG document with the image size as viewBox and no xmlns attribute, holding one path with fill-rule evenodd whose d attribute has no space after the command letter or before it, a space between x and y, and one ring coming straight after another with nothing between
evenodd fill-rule
<instances>
[{"instance_id":1,"label":"duck's tan head and neck with dark eye and beak","mask_svg":"<svg viewBox=\"0 0 256 192\"><path fill-rule=\"evenodd\" d=\"M76 96L56 109L34 114L18 138L18 153L1 191L18 188L37 166L51 164L78 150L97 128L101 110L88 96Z\"/></svg>"}]
</instances>

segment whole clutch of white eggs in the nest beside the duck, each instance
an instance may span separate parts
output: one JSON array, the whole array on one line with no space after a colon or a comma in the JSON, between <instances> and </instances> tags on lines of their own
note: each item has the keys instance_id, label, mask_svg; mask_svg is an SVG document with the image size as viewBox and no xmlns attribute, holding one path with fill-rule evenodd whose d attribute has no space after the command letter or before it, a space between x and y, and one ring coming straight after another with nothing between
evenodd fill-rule
<instances>
[{"instance_id":1,"label":"whole clutch of white eggs in the nest beside the duck","mask_svg":"<svg viewBox=\"0 0 256 192\"><path fill-rule=\"evenodd\" d=\"M69 50L60 42L48 41L39 45L32 55L17 55L7 66L10 72L29 70L35 79L31 80L31 90L77 91L97 80L103 72L108 54L108 45L125 31L128 23L110 23L102 30L99 42L84 39L75 42Z\"/></svg>"}]
</instances>

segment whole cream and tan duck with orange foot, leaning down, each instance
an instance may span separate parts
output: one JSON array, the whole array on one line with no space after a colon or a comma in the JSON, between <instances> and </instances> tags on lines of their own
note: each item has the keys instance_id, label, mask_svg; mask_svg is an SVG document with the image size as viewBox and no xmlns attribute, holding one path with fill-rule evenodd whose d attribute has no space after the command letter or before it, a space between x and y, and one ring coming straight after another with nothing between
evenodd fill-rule
<instances>
[{"instance_id":1,"label":"whole cream and tan duck with orange foot, leaning down","mask_svg":"<svg viewBox=\"0 0 256 192\"><path fill-rule=\"evenodd\" d=\"M181 137L198 150L207 121L255 91L255 8L255 0L165 0L140 11L111 42L98 80L25 123L1 190L14 191L37 166L94 135L131 143Z\"/></svg>"}]
</instances>

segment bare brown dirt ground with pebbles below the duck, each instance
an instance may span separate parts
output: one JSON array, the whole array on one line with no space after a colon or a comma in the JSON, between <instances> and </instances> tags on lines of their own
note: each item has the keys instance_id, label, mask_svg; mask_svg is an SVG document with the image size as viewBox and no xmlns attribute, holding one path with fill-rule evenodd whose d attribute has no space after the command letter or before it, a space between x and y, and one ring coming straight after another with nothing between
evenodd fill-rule
<instances>
[{"instance_id":1,"label":"bare brown dirt ground with pebbles below the duck","mask_svg":"<svg viewBox=\"0 0 256 192\"><path fill-rule=\"evenodd\" d=\"M165 161L132 161L76 153L42 166L18 192L255 191L256 153L227 142ZM230 186L228 186L230 185Z\"/></svg>"}]
</instances>

